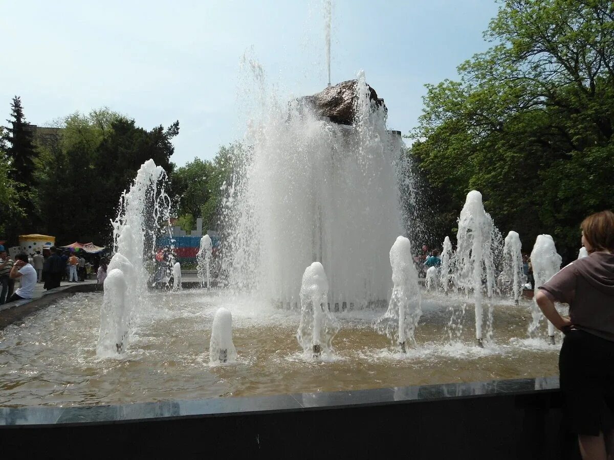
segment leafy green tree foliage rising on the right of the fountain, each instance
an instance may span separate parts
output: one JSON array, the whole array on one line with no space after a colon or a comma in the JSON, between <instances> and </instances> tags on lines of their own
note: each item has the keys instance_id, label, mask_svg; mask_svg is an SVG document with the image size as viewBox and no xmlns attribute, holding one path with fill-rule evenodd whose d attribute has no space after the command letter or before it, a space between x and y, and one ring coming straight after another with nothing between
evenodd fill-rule
<instances>
[{"instance_id":1,"label":"leafy green tree foliage rising on the right of the fountain","mask_svg":"<svg viewBox=\"0 0 614 460\"><path fill-rule=\"evenodd\" d=\"M411 155L443 215L480 190L524 250L550 233L577 253L581 219L614 199L613 5L506 0L484 33L492 47L458 67L459 81L427 85Z\"/></svg>"}]
</instances>

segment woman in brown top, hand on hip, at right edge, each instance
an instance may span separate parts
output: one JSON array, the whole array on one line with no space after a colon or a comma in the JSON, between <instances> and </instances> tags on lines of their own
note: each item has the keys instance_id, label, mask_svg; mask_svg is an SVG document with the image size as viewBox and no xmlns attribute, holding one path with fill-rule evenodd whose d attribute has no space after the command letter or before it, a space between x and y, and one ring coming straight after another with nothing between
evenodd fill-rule
<instances>
[{"instance_id":1,"label":"woman in brown top, hand on hip, at right edge","mask_svg":"<svg viewBox=\"0 0 614 460\"><path fill-rule=\"evenodd\" d=\"M582 458L605 460L614 455L614 213L590 215L580 228L589 256L540 286L535 301L565 334L561 391ZM555 301L569 304L569 319L559 315Z\"/></svg>"}]
</instances>

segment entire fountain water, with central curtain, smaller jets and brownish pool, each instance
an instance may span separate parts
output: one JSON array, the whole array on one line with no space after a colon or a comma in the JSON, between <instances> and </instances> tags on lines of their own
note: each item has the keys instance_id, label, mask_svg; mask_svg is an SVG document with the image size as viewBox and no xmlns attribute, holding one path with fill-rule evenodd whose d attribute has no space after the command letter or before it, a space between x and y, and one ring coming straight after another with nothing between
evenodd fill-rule
<instances>
[{"instance_id":1,"label":"entire fountain water, with central curtain, smaller jets and brownish pool","mask_svg":"<svg viewBox=\"0 0 614 460\"><path fill-rule=\"evenodd\" d=\"M79 294L0 331L0 405L556 372L558 348L537 334L527 339L531 302L517 289L519 236L510 232L502 251L478 191L467 195L456 250L451 239L443 242L433 291L421 288L400 212L403 143L387 129L386 106L362 72L289 103L262 101L223 186L221 275L211 280L211 242L203 237L199 277L207 289L148 290L170 200L165 173L146 162L120 202L104 294ZM495 289L501 270L511 297ZM212 281L225 287L211 289Z\"/></svg>"}]
</instances>

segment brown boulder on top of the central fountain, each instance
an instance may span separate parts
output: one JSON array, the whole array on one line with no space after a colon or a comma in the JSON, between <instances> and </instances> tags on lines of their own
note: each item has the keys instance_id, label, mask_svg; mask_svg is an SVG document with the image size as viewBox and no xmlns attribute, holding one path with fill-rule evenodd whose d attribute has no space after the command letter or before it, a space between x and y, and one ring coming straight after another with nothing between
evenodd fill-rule
<instances>
[{"instance_id":1,"label":"brown boulder on top of the central fountain","mask_svg":"<svg viewBox=\"0 0 614 460\"><path fill-rule=\"evenodd\" d=\"M358 80L348 80L337 83L335 86L328 86L324 91L313 94L313 96L303 96L298 99L301 105L309 107L316 115L328 117L333 123L340 125L352 125L356 118L356 85ZM367 85L369 98L379 106L383 106L384 99L378 98L378 94L371 86Z\"/></svg>"}]
</instances>

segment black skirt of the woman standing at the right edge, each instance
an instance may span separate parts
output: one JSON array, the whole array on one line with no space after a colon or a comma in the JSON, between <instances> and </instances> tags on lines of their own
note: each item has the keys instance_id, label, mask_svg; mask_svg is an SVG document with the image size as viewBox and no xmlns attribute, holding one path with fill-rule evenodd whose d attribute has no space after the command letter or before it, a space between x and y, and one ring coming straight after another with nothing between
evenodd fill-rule
<instances>
[{"instance_id":1,"label":"black skirt of the woman standing at the right edge","mask_svg":"<svg viewBox=\"0 0 614 460\"><path fill-rule=\"evenodd\" d=\"M567 332L559 372L570 431L596 436L614 429L614 342L578 329Z\"/></svg>"}]
</instances>

